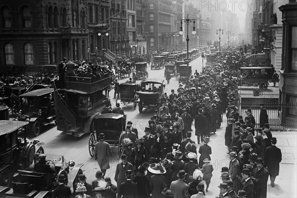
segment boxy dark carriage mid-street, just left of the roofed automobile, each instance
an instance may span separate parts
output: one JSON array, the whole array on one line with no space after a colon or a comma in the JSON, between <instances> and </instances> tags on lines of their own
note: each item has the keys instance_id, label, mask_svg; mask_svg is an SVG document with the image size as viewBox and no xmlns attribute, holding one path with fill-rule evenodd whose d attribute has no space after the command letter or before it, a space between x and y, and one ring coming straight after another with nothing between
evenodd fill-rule
<instances>
[{"instance_id":1,"label":"boxy dark carriage mid-street, just left of the roofed automobile","mask_svg":"<svg viewBox=\"0 0 297 198\"><path fill-rule=\"evenodd\" d=\"M119 94L116 100L121 100L124 104L126 102L133 102L134 110L137 106L138 95L136 92L139 91L139 85L136 83L121 83L119 85Z\"/></svg>"}]
</instances>

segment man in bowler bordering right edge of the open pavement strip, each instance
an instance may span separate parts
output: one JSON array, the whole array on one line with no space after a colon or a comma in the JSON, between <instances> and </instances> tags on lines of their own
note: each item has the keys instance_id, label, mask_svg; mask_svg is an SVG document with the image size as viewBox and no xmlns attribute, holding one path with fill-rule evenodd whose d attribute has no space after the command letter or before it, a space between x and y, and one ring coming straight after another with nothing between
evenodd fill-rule
<instances>
[{"instance_id":1,"label":"man in bowler bordering right edge of the open pavement strip","mask_svg":"<svg viewBox=\"0 0 297 198\"><path fill-rule=\"evenodd\" d=\"M231 180L233 181L234 185L234 191L238 193L240 189L240 181L239 181L239 175L240 175L240 165L239 161L236 159L236 152L230 152L229 158L230 158L230 164L229 164L229 175L231 177Z\"/></svg>"}]
</instances>

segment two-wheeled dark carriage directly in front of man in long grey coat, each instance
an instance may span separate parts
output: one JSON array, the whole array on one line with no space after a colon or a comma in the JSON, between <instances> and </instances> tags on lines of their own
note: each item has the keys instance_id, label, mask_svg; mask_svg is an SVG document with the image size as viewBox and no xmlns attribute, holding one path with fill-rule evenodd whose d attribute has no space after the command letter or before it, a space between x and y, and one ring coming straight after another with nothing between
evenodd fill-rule
<instances>
[{"instance_id":1,"label":"two-wheeled dark carriage directly in front of man in long grey coat","mask_svg":"<svg viewBox=\"0 0 297 198\"><path fill-rule=\"evenodd\" d=\"M120 135L126 129L127 115L119 113L102 113L94 119L94 132L89 137L89 153L91 157L95 154L95 144L99 142L99 134L104 134L104 141L114 146L118 145L118 155L122 155L123 150L119 144Z\"/></svg>"}]
</instances>

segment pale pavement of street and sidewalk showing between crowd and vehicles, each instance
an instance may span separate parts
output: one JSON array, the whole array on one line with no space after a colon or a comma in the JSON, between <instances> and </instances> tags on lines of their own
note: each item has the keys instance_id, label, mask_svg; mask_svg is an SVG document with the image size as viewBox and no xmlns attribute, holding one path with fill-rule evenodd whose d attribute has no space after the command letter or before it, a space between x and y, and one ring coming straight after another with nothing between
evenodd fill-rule
<instances>
[{"instance_id":1,"label":"pale pavement of street and sidewalk showing between crowd and vehicles","mask_svg":"<svg viewBox=\"0 0 297 198\"><path fill-rule=\"evenodd\" d=\"M199 57L191 62L193 73L197 69L201 72L202 59ZM205 66L205 61L204 61ZM150 70L148 67L148 77L164 79L164 69L161 70ZM126 79L119 80L119 82L126 81ZM170 93L171 89L176 90L178 87L178 80L175 77L171 78L170 84L166 85L165 92ZM113 90L110 93L110 98L113 96ZM115 100L111 99L112 106L115 105ZM139 130L139 137L144 135L144 128L147 126L147 121L153 114L152 109L144 109L142 113L139 113L138 108L133 109L133 104L126 103L122 105L124 112L127 114L127 119L132 120ZM226 120L225 115L224 121ZM128 121L127 120L127 121ZM210 183L209 191L206 193L207 198L213 198L219 194L217 186L221 183L220 170L222 166L228 166L229 159L226 154L227 148L224 145L224 133L225 133L226 122L223 123L222 128L217 131L215 135L211 136L209 145L212 147L212 161L214 167L213 178ZM194 130L194 123L192 125ZM44 132L38 139L44 142L45 153L48 154L61 154L64 155L65 159L74 160L76 163L84 163L83 171L87 176L87 181L91 183L95 180L95 173L99 169L97 161L91 158L88 150L89 135L85 134L81 138L75 138L68 135L60 134L60 131L56 130L56 127L49 128L47 132ZM195 133L195 130L192 134ZM276 179L276 185L271 188L270 181L268 182L268 194L267 198L296 198L296 158L297 158L297 135L296 132L276 132L273 136L278 138L277 147L282 149L283 160L280 166L280 176ZM192 135L192 140L197 142L195 135ZM106 177L110 177L114 182L114 173L116 164L119 162L117 147L112 147L112 160L110 161L111 168L107 170Z\"/></svg>"}]
</instances>

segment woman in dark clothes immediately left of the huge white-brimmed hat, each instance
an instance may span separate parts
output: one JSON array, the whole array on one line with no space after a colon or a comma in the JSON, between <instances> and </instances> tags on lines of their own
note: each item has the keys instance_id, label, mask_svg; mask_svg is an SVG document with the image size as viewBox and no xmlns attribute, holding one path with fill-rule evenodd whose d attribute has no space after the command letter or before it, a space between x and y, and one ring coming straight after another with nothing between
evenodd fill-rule
<instances>
[{"instance_id":1,"label":"woman in dark clothes immediately left of the huge white-brimmed hat","mask_svg":"<svg viewBox=\"0 0 297 198\"><path fill-rule=\"evenodd\" d=\"M138 171L136 172L135 178L133 182L137 184L137 189L138 189L138 195L140 198L150 198L149 194L151 193L150 191L150 186L149 186L149 180L148 180L148 162L145 162L142 164Z\"/></svg>"}]
</instances>

